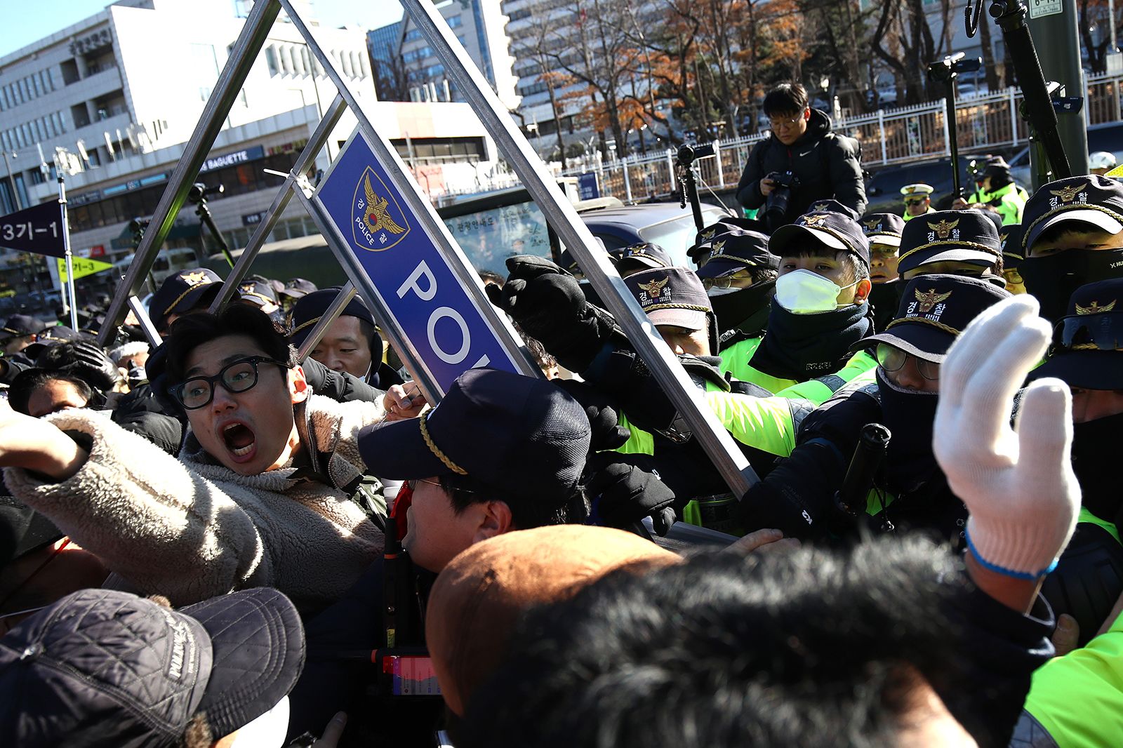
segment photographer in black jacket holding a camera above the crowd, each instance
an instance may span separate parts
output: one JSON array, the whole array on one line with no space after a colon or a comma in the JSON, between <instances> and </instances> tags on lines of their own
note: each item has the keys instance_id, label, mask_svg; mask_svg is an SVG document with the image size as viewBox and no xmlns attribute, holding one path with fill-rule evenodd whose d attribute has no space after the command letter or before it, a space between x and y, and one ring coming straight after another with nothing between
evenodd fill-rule
<instances>
[{"instance_id":1,"label":"photographer in black jacket holding a camera above the crowd","mask_svg":"<svg viewBox=\"0 0 1123 748\"><path fill-rule=\"evenodd\" d=\"M749 153L737 185L738 202L750 210L763 208L759 218L769 232L824 198L862 215L866 186L858 142L832 133L830 117L809 106L798 83L769 91L764 110L772 135Z\"/></svg>"}]
</instances>

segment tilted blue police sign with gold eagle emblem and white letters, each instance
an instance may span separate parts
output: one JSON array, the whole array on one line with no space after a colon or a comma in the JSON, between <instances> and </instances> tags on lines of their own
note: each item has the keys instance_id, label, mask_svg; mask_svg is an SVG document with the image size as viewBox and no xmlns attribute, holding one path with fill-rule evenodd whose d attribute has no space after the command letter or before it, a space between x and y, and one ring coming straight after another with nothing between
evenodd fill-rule
<instances>
[{"instance_id":1,"label":"tilted blue police sign with gold eagle emblem and white letters","mask_svg":"<svg viewBox=\"0 0 1123 748\"><path fill-rule=\"evenodd\" d=\"M316 190L369 280L371 299L408 338L441 392L468 368L522 373L457 277L448 237L430 237L356 131ZM432 221L439 225L439 221ZM444 247L444 252L442 252Z\"/></svg>"}]
</instances>

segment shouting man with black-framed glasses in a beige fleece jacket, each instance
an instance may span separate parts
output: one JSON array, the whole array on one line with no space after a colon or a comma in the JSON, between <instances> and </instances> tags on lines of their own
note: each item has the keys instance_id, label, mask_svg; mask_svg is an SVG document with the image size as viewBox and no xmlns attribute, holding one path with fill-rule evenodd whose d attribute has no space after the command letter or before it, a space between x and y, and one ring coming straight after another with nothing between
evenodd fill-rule
<instances>
[{"instance_id":1,"label":"shouting man with black-framed glasses in a beige fleece jacket","mask_svg":"<svg viewBox=\"0 0 1123 748\"><path fill-rule=\"evenodd\" d=\"M179 459L88 410L34 419L3 404L12 495L122 577L110 585L177 605L273 586L305 613L337 599L383 553L377 517L351 500L358 431L422 399L312 395L284 335L245 304L184 317L165 346L156 381L190 425Z\"/></svg>"}]
</instances>

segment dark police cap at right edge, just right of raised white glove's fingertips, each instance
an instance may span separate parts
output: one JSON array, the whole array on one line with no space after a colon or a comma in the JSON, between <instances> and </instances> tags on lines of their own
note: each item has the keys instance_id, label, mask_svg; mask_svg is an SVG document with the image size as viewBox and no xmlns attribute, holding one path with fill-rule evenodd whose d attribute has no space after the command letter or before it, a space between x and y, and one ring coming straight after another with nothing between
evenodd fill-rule
<instances>
[{"instance_id":1,"label":"dark police cap at right edge, just right of raised white glove's fingertips","mask_svg":"<svg viewBox=\"0 0 1123 748\"><path fill-rule=\"evenodd\" d=\"M1123 279L1078 288L1053 328L1046 363L1031 380L1056 376L1086 390L1123 390Z\"/></svg>"}]
</instances>

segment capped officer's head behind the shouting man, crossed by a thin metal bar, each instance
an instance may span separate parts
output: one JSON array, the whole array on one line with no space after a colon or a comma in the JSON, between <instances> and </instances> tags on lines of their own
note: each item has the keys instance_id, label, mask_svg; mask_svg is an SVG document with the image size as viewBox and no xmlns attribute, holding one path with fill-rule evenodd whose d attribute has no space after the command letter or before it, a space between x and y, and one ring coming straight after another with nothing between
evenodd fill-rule
<instances>
[{"instance_id":1,"label":"capped officer's head behind the shouting man, crossed by a thin metal bar","mask_svg":"<svg viewBox=\"0 0 1123 748\"><path fill-rule=\"evenodd\" d=\"M320 317L339 295L332 286L303 295L292 308L292 344L300 347ZM346 372L378 390L402 384L402 377L382 361L382 336L374 316L358 295L344 307L309 354L335 372Z\"/></svg>"}]
</instances>

